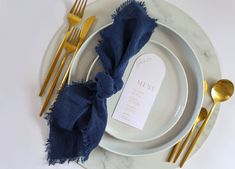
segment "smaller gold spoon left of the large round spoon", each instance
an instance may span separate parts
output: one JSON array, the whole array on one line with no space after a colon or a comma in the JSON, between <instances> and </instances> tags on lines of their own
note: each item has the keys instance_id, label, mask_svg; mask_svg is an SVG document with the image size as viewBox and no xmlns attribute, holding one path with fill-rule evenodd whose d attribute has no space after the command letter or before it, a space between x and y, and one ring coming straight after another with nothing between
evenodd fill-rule
<instances>
[{"instance_id":1,"label":"smaller gold spoon left of the large round spoon","mask_svg":"<svg viewBox=\"0 0 235 169\"><path fill-rule=\"evenodd\" d=\"M190 138L192 137L192 135L193 135L193 133L194 133L194 130L195 130L196 126L198 125L198 123L200 123L200 122L202 122L203 120L205 120L206 117L207 117L207 114L208 114L207 110L203 107L203 108L201 109L201 111L200 111L199 116L197 117L197 120L196 120L195 123L193 124L193 127L192 127L192 129L190 130L188 136L186 137L185 141L183 142L183 144L182 144L181 147L179 148L179 151L178 151L178 153L176 154L175 159L174 159L174 161L173 161L174 163L178 160L180 154L181 154L182 151L184 150L185 146L188 144L188 142L189 142Z\"/></svg>"}]
</instances>

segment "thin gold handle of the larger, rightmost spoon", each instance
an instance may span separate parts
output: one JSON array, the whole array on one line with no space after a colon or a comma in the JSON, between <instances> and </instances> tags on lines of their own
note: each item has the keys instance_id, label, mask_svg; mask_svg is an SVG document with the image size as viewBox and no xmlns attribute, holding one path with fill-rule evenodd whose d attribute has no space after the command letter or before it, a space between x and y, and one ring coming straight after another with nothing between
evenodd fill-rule
<instances>
[{"instance_id":1,"label":"thin gold handle of the larger, rightmost spoon","mask_svg":"<svg viewBox=\"0 0 235 169\"><path fill-rule=\"evenodd\" d=\"M206 127L208 121L210 120L211 115L213 114L213 111L214 111L216 105L217 105L217 103L214 103L214 104L213 104L213 106L212 106L212 108L211 108L211 110L210 110L210 112L209 112L207 118L206 118L205 121L202 123L202 126L200 127L200 129L198 130L198 132L197 132L195 138L193 139L192 143L190 144L188 151L186 152L186 154L184 155L183 159L181 160L181 162L180 162L180 167L183 167L184 163L186 162L186 160L188 159L189 155L190 155L191 152L193 151L193 148L194 148L194 146L196 145L196 143L197 143L199 137L201 136L203 130L205 129L205 127Z\"/></svg>"}]
</instances>

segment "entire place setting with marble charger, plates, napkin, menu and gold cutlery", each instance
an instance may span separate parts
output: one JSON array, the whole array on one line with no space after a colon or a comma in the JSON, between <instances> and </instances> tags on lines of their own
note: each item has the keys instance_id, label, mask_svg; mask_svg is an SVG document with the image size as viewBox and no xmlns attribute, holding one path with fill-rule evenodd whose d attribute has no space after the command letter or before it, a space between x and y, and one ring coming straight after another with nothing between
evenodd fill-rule
<instances>
[{"instance_id":1,"label":"entire place setting with marble charger, plates, napkin, menu and gold cutlery","mask_svg":"<svg viewBox=\"0 0 235 169\"><path fill-rule=\"evenodd\" d=\"M41 64L48 164L183 167L234 93L201 28L158 0L76 0L66 18Z\"/></svg>"}]
</instances>

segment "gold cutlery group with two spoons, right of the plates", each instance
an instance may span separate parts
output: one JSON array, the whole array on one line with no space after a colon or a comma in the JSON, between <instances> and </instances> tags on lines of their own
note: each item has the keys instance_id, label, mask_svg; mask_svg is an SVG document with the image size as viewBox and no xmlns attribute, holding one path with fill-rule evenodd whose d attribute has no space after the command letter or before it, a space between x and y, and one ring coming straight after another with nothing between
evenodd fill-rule
<instances>
[{"instance_id":1,"label":"gold cutlery group with two spoons, right of the plates","mask_svg":"<svg viewBox=\"0 0 235 169\"><path fill-rule=\"evenodd\" d=\"M204 81L204 93L206 93L206 91L207 91L207 82ZM196 126L200 122L202 122L199 130L197 131L195 137L192 139L192 142L189 145L188 150L186 151L185 155L183 156L183 158L179 164L180 167L183 167L184 163L186 162L186 160L189 158L190 154L192 153L193 148L195 147L203 130L205 129L206 125L208 124L216 105L230 99L230 97L233 95L233 93L234 93L234 85L231 81L229 81L227 79L219 80L212 86L212 88L211 88L211 98L213 101L212 108L210 109L209 113L207 112L207 110L205 108L201 109L201 112L200 112L197 120L195 121L192 129L190 130L189 134L187 135L187 137L185 139L182 139L181 141L179 141L171 150L170 155L167 160L168 162L176 163L176 161L179 159L181 153L183 152L184 148L190 142L190 139L192 139L192 136L194 134ZM183 142L183 140L184 140L184 142Z\"/></svg>"}]
</instances>

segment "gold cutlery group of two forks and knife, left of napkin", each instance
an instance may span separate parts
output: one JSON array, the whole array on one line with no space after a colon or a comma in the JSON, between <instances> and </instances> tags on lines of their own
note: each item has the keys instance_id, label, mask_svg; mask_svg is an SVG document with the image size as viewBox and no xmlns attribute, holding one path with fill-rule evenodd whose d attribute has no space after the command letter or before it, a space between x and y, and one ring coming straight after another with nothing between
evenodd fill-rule
<instances>
[{"instance_id":1,"label":"gold cutlery group of two forks and knife, left of napkin","mask_svg":"<svg viewBox=\"0 0 235 169\"><path fill-rule=\"evenodd\" d=\"M87 18L85 20L85 22L83 23L81 28L79 28L79 26L82 23L82 17L83 17L84 11L85 11L86 4L87 4L87 0L76 0L72 9L70 10L70 12L67 15L67 20L69 23L67 32L65 33L64 38L63 38L61 44L59 45L59 48L58 48L56 55L52 61L52 64L50 65L49 71L46 75L46 78L43 82L41 91L39 93L39 96L43 96L43 94L45 93L45 90L48 86L48 83L51 79L51 76L52 76L53 72L55 71L55 67L57 64L59 64L59 68L55 72L55 77L52 80L51 87L49 88L49 92L47 93L45 102L44 102L43 107L41 109L40 116L42 116L44 114L44 112L45 112L45 110L51 100L51 97L52 97L53 92L56 88L56 85L58 83L58 80L61 76L61 73L64 69L64 66L65 66L65 63L66 63L68 57L70 55L73 55L72 59L69 63L69 66L67 67L67 69L65 71L66 73L63 76L63 80L60 83L59 89L61 89L64 86L64 84L67 82L69 71L70 71L70 68L71 68L73 60L74 60L74 56L76 55L77 51L80 49L82 44L84 43L84 41L87 37L87 34L89 33L89 30L91 29L91 27L95 21L96 17L90 16L89 18ZM58 63L63 51L65 51L65 54L62 58L62 61L60 63Z\"/></svg>"}]
</instances>

